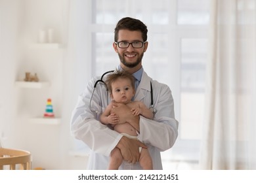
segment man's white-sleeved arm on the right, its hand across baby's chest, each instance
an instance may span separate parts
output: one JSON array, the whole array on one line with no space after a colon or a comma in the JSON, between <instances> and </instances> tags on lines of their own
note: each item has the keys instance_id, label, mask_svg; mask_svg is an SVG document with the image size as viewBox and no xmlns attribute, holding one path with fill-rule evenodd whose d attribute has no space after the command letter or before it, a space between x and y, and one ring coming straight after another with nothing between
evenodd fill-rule
<instances>
[{"instance_id":1,"label":"man's white-sleeved arm on the right, its hand across baby's chest","mask_svg":"<svg viewBox=\"0 0 256 183\"><path fill-rule=\"evenodd\" d=\"M165 84L153 82L154 120L140 116L140 141L155 146L160 151L167 150L175 144L178 137L178 122L175 120L174 101L171 90ZM146 101L144 101L146 103Z\"/></svg>"}]
</instances>

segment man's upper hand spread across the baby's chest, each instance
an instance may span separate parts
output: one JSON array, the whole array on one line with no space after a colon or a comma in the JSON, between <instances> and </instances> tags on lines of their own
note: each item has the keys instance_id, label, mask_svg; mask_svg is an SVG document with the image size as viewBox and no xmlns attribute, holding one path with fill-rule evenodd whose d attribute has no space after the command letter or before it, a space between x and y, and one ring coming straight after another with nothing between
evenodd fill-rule
<instances>
[{"instance_id":1,"label":"man's upper hand spread across the baby's chest","mask_svg":"<svg viewBox=\"0 0 256 183\"><path fill-rule=\"evenodd\" d=\"M127 107L125 104L116 103L115 101L112 101L112 111L111 113L116 114L119 116L119 124L124 124L125 122L131 124L137 131L140 131L140 125L139 125L139 116L133 115L131 112L131 108Z\"/></svg>"}]
</instances>

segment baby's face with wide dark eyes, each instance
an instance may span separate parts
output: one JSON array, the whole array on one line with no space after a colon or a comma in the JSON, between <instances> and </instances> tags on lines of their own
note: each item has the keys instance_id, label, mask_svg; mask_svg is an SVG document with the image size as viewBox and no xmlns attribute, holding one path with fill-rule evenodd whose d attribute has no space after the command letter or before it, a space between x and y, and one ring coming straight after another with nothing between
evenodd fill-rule
<instances>
[{"instance_id":1,"label":"baby's face with wide dark eyes","mask_svg":"<svg viewBox=\"0 0 256 183\"><path fill-rule=\"evenodd\" d=\"M112 83L112 97L117 103L129 103L134 93L131 81L127 78L118 78Z\"/></svg>"}]
</instances>

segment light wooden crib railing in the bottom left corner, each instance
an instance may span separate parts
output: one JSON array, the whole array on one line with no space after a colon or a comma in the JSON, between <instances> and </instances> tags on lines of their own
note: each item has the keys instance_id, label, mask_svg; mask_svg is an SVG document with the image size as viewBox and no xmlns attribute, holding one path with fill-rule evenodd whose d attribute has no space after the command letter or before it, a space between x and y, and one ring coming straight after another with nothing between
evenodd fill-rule
<instances>
[{"instance_id":1,"label":"light wooden crib railing in the bottom left corner","mask_svg":"<svg viewBox=\"0 0 256 183\"><path fill-rule=\"evenodd\" d=\"M9 167L10 170L30 170L31 154L25 150L0 148L0 170Z\"/></svg>"}]
</instances>

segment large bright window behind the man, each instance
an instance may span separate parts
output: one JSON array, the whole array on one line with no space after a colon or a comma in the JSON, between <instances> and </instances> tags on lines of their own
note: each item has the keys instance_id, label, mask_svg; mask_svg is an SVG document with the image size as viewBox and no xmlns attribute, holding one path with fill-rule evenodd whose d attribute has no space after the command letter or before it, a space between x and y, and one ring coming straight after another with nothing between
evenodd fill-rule
<instances>
[{"instance_id":1,"label":"large bright window behind the man","mask_svg":"<svg viewBox=\"0 0 256 183\"><path fill-rule=\"evenodd\" d=\"M179 137L171 150L163 152L163 161L198 161L209 0L91 1L93 76L117 67L118 57L112 48L114 27L124 16L139 18L148 26L144 70L173 92Z\"/></svg>"}]
</instances>

